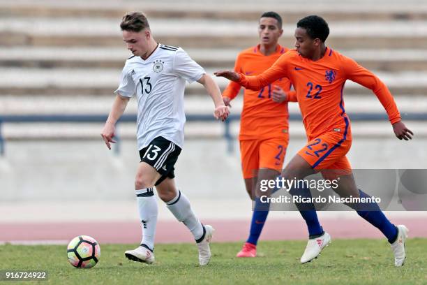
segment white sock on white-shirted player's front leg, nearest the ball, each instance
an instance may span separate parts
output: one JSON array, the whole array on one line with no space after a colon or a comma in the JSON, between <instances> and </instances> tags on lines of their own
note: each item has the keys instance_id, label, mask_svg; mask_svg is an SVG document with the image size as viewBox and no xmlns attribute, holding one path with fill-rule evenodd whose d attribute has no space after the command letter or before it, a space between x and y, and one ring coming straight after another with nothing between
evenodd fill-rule
<instances>
[{"instance_id":1,"label":"white sock on white-shirted player's front leg, nearest the ball","mask_svg":"<svg viewBox=\"0 0 427 285\"><path fill-rule=\"evenodd\" d=\"M157 200L152 188L136 190L138 212L142 226L142 241L151 251L154 249L154 236L157 225Z\"/></svg>"}]
</instances>

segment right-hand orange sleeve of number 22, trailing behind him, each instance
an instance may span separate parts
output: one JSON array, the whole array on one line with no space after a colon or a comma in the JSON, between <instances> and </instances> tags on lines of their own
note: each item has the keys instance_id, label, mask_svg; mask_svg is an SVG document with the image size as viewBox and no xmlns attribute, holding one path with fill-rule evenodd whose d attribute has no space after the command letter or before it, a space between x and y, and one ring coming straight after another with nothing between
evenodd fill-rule
<instances>
[{"instance_id":1,"label":"right-hand orange sleeve of number 22, trailing behind him","mask_svg":"<svg viewBox=\"0 0 427 285\"><path fill-rule=\"evenodd\" d=\"M401 118L396 102L384 82L377 78L375 74L357 64L353 59L344 58L343 68L347 78L371 89L386 110L390 123L399 122Z\"/></svg>"}]
</instances>

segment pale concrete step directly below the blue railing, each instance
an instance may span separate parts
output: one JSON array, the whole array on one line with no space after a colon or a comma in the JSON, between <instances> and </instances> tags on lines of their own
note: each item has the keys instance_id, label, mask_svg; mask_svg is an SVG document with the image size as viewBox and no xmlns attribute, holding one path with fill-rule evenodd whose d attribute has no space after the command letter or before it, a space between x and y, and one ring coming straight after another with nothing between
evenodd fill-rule
<instances>
[{"instance_id":1,"label":"pale concrete step directly below the blue railing","mask_svg":"<svg viewBox=\"0 0 427 285\"><path fill-rule=\"evenodd\" d=\"M350 117L351 120L351 117ZM414 131L414 139L419 144L425 145L427 138L427 125L425 122L405 121L408 128ZM64 124L64 123L8 123L3 124L3 138L10 140L98 140L100 147L105 147L100 138L103 124ZM186 139L223 138L225 126L222 122L187 122L185 129ZM234 138L239 135L239 122L234 121L230 126ZM135 124L119 124L117 133L121 139L136 140ZM306 132L301 122L290 122L290 136L292 138L306 138ZM391 124L384 122L352 122L353 138L391 138L394 137ZM9 142L8 142L9 143ZM405 143L405 142L404 142ZM304 142L299 144L301 147ZM6 148L8 145L6 144Z\"/></svg>"}]
</instances>

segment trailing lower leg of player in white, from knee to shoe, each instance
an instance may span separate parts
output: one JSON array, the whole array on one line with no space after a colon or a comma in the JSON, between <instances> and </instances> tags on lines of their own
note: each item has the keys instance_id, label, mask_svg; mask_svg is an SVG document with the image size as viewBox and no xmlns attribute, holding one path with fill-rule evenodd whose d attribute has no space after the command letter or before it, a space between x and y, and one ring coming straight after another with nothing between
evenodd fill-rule
<instances>
[{"instance_id":1,"label":"trailing lower leg of player in white, from knee to shoe","mask_svg":"<svg viewBox=\"0 0 427 285\"><path fill-rule=\"evenodd\" d=\"M202 225L197 219L190 206L188 198L175 186L173 178L167 177L163 182L156 186L159 196L166 197L174 193L172 199L165 200L167 209L174 214L178 221L181 221L193 234L197 248L199 249L200 265L207 265L211 260L210 242L213 235L213 228L209 225Z\"/></svg>"}]
</instances>

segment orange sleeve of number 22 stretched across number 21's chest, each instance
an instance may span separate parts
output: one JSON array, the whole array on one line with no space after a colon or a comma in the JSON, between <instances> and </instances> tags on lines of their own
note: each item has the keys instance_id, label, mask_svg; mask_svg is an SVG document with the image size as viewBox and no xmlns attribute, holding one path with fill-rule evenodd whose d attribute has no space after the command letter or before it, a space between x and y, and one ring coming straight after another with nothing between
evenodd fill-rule
<instances>
[{"instance_id":1,"label":"orange sleeve of number 22 stretched across number 21's chest","mask_svg":"<svg viewBox=\"0 0 427 285\"><path fill-rule=\"evenodd\" d=\"M237 83L246 89L255 91L260 90L262 87L267 86L280 78L289 78L287 72L289 62L288 54L285 53L277 59L273 66L259 75L246 76L244 73L239 73L240 78Z\"/></svg>"}]
</instances>

